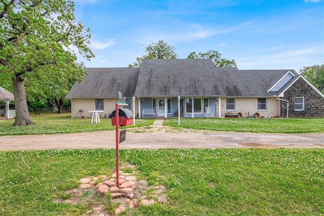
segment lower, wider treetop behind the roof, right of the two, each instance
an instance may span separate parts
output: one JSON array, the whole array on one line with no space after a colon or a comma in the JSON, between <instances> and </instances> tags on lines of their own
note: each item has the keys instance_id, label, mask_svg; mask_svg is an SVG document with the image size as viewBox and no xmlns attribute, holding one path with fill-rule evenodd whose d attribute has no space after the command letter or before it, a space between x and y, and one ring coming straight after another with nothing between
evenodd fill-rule
<instances>
[{"instance_id":1,"label":"lower, wider treetop behind the roof, right of the two","mask_svg":"<svg viewBox=\"0 0 324 216\"><path fill-rule=\"evenodd\" d=\"M192 52L189 54L187 59L212 59L215 67L237 67L233 60L221 58L221 54L217 51L208 51L207 53Z\"/></svg>"}]
</instances>

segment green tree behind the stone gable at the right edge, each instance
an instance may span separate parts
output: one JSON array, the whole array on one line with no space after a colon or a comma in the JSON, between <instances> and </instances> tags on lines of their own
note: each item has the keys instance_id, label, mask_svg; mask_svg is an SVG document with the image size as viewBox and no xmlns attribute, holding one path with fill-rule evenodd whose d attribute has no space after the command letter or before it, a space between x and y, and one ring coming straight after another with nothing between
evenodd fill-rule
<instances>
[{"instance_id":1,"label":"green tree behind the stone gable at the right edge","mask_svg":"<svg viewBox=\"0 0 324 216\"><path fill-rule=\"evenodd\" d=\"M324 94L324 64L307 66L300 70L321 93Z\"/></svg>"}]
</instances>

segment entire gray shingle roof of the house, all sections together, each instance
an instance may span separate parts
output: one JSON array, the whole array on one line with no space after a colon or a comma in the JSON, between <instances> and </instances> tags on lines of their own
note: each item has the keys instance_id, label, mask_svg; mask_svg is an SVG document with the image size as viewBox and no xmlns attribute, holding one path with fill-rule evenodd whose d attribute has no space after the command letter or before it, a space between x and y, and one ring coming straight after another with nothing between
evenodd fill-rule
<instances>
[{"instance_id":1,"label":"entire gray shingle roof of the house, all sections together","mask_svg":"<svg viewBox=\"0 0 324 216\"><path fill-rule=\"evenodd\" d=\"M279 95L299 74L277 92L267 91L289 70L238 70L214 67L211 59L144 59L141 68L87 68L67 98L145 96L272 97Z\"/></svg>"}]
</instances>

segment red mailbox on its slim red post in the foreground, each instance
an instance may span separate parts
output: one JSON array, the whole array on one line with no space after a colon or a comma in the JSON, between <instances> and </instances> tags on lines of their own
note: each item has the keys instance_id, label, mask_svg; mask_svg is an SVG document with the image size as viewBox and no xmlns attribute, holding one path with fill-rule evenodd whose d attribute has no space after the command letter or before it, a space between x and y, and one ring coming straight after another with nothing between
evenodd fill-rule
<instances>
[{"instance_id":1,"label":"red mailbox on its slim red post in the foreground","mask_svg":"<svg viewBox=\"0 0 324 216\"><path fill-rule=\"evenodd\" d=\"M119 188L119 126L126 126L133 122L133 115L129 109L119 109L119 106L128 104L116 104L116 109L111 113L111 124L116 125L116 186ZM123 116L119 116L122 114Z\"/></svg>"}]
</instances>

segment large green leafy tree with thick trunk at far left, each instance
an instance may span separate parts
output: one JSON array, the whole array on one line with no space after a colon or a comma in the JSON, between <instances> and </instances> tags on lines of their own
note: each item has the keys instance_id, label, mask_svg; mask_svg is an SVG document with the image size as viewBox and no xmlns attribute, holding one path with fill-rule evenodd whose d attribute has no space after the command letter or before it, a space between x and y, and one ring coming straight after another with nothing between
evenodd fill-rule
<instances>
[{"instance_id":1,"label":"large green leafy tree with thick trunk at far left","mask_svg":"<svg viewBox=\"0 0 324 216\"><path fill-rule=\"evenodd\" d=\"M64 87L85 73L75 63L76 52L90 60L89 28L75 20L74 3L65 0L0 0L0 78L12 79L14 125L32 124L30 97L46 94L45 85ZM0 80L1 81L1 80Z\"/></svg>"}]
</instances>

